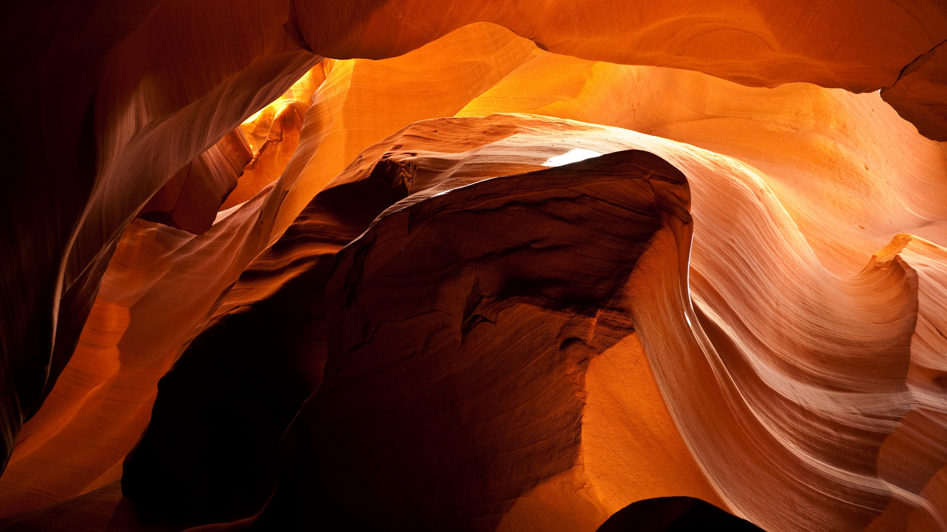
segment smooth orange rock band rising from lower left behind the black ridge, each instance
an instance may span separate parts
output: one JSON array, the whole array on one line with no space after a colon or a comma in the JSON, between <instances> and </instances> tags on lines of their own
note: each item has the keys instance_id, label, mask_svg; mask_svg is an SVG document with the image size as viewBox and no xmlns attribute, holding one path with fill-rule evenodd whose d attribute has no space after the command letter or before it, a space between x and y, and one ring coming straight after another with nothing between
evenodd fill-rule
<instances>
[{"instance_id":1,"label":"smooth orange rock band rising from lower left behind the black ridge","mask_svg":"<svg viewBox=\"0 0 947 532\"><path fill-rule=\"evenodd\" d=\"M324 69L334 76L313 96L306 126L300 132L299 147L277 181L264 186L250 200L218 214L216 222L201 235L141 219L129 226L118 249L127 250L134 258L113 260L114 271L105 276L98 298L127 300L129 306L134 306L127 328L115 331L124 342L116 338L116 343L121 352L134 356L134 364L146 364L153 372L130 372L128 378L134 379L135 384L126 388L123 402L149 404L153 400L157 380L170 368L180 349L208 321L207 313L221 303L222 293L254 257L286 230L313 195L346 168L360 151L415 120L456 113L490 83L502 79L535 48L509 30L493 26L486 27L487 31L483 29L485 27L472 27L458 31L438 45L386 62L346 62L338 70L332 70L331 64L317 65L318 70ZM437 58L442 55L448 59L438 62ZM420 66L424 64L428 66ZM417 90L418 83L413 80L416 76L441 76L471 64L491 70L491 76L485 76L479 85L472 85L466 75L456 74L452 83L444 83L434 93L421 90L413 107L403 106L402 113L386 114L389 116L386 121L366 115L383 113L385 108L397 109L403 91ZM401 78L401 84L389 85L412 70L416 73L407 80ZM364 126L355 127L358 124ZM253 139L252 134L250 138ZM263 153L261 159L266 158L266 151ZM140 245L141 241L150 244ZM124 280L129 277L132 280ZM258 288L264 293L270 290L266 286L258 285ZM238 287L237 293L242 290L243 287ZM251 300L262 296L260 293L247 295ZM76 363L77 366L85 364L96 363ZM134 364L127 367L133 369ZM64 382L62 393L73 398L67 399L72 404L70 408L79 408L76 401L84 400L85 391L95 385L98 383L77 391L70 390L72 384ZM141 424L106 405L101 406L96 417L117 421L116 429L110 433L113 437L106 445L118 454L130 451L141 434ZM143 408L147 419L149 407ZM48 454L36 453L38 447L46 444L40 440L22 445L24 452L12 456L12 462L21 464L11 464L10 468L23 469L21 473L0 478L0 490L6 490L8 495L0 498L2 514L36 509L78 495L81 489L77 489L78 486L84 488L116 465L111 458L98 454L91 454L80 462L56 458L58 453L52 451L52 445L75 446L82 441L66 437L68 433L63 433L62 426L65 422L68 422L67 417L49 421L37 419L35 426L20 437L22 445L34 433L50 434L54 439L60 437L57 434L63 434L61 443L50 444ZM98 434L100 427L101 424L79 421L73 434L92 436ZM116 472L120 472L117 467L112 473Z\"/></svg>"}]
</instances>

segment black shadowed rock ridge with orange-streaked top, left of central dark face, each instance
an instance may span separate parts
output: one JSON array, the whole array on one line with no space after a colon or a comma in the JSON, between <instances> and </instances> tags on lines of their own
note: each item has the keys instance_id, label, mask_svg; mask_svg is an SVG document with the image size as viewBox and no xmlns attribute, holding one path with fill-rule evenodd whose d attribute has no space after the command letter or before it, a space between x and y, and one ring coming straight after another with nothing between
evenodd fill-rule
<instances>
[{"instance_id":1,"label":"black shadowed rock ridge with orange-streaked top, left of central dark face","mask_svg":"<svg viewBox=\"0 0 947 532\"><path fill-rule=\"evenodd\" d=\"M267 296L227 305L158 383L161 399L123 476L145 512L231 521L270 497L279 438L322 381L331 257L405 194L378 172L365 177L317 194L238 281L266 286Z\"/></svg>"}]
</instances>

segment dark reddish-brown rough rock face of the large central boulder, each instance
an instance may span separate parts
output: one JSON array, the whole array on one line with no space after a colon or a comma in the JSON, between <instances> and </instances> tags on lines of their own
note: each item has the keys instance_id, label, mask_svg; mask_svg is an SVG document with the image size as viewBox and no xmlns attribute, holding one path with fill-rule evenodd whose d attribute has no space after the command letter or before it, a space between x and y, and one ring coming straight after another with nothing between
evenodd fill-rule
<instances>
[{"instance_id":1,"label":"dark reddish-brown rough rock face of the large central boulder","mask_svg":"<svg viewBox=\"0 0 947 532\"><path fill-rule=\"evenodd\" d=\"M586 366L634 330L620 287L662 225L647 155L395 204L336 257L326 381L302 415L337 504L490 529L575 465Z\"/></svg>"}]
</instances>

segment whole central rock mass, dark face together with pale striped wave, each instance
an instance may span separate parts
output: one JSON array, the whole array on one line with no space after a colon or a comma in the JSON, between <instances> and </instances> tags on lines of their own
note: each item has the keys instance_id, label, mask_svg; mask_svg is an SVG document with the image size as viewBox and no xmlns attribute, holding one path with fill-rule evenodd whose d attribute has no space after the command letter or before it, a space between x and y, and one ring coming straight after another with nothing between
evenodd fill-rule
<instances>
[{"instance_id":1,"label":"whole central rock mass, dark face together with pale striped wave","mask_svg":"<svg viewBox=\"0 0 947 532\"><path fill-rule=\"evenodd\" d=\"M455 138L467 139L468 150L452 152ZM538 167L556 154L577 149L612 154L562 168L493 177ZM685 172L689 185L679 171ZM642 180L642 174L656 180ZM623 178L616 180L616 175ZM600 181L602 176L607 179L597 186L606 186L607 192L596 195L594 187L584 188L583 179ZM648 185L635 188L635 180ZM635 207L625 198L630 192L622 192L623 186L647 192L645 204ZM703 226L694 223L689 253L688 188L693 219L707 220ZM378 196L379 192L370 192L373 189L390 192ZM394 203L404 194L410 195ZM371 197L378 198L377 206L368 206ZM347 198L360 201L347 204ZM604 204L592 208L594 202ZM391 203L371 228L335 255L373 213ZM550 203L556 208L544 208ZM594 231L599 219L610 220L608 208L617 208L616 204L625 214ZM331 205L362 222L348 225L348 233L331 229L346 226L339 215L330 215ZM651 222L640 226L649 216ZM617 239L628 243L614 249L605 244L615 237L599 234L637 226L641 236ZM724 231L724 227L743 229ZM509 240L517 231L525 232L522 238ZM574 240L559 241L572 231L579 232L570 237ZM583 252L583 245L591 247ZM486 247L477 251L478 246ZM610 249L621 257L640 258L599 257ZM333 255L331 264L320 258ZM682 275L688 270L688 255L696 311L689 309ZM604 276L594 276L597 272ZM555 519L563 507L571 507L579 511L569 516L570 526L586 529L634 500L670 495L711 500L771 530L799 529L803 518L809 527L860 529L898 519L891 518L888 508L899 505L906 508L904 515L914 512L937 523L933 506L919 504L933 472L920 472L929 474L928 479L917 481L910 491L893 485L876 467L884 445L893 445L885 444L886 438L908 430L900 428L901 419L918 406L905 383L918 309L913 278L904 268L875 266L851 280L829 275L776 195L756 173L733 159L639 133L526 115L421 122L356 158L272 250L242 275L224 299L221 312L226 314L220 315L229 317L208 329L184 354L168 378L169 385L177 382L175 388L163 385L168 400L179 404L174 407L177 414L155 418L145 442L164 445L149 443L134 455L139 464L165 465L129 470L126 482L130 492L135 486L162 486L151 497L168 504L160 494L171 486L201 482L212 486L225 478L211 475L202 481L208 477L201 476L200 468L182 465L193 460L202 467L215 461L223 466L221 450L238 455L245 439L231 434L209 449L185 446L187 458L173 449L186 441L179 433L205 430L206 419L241 416L240 402L222 406L213 399L218 394L193 395L200 389L198 382L222 379L202 373L194 364L208 356L211 361L218 357L218 364L224 360L240 364L213 353L227 345L225 338L236 338L237 345L252 341L250 331L257 326L281 331L277 333L281 340L257 347L223 347L224 352L237 348L249 353L243 355L249 367L240 370L248 372L247 377L263 372L252 354L266 350L265 360L272 361L266 372L276 371L285 378L312 376L300 390L307 385L314 390L323 374L326 379L296 417L295 430L287 433L296 442L283 442L289 464L281 473L277 502L305 500L300 493L331 497L331 506L371 500L379 510L363 512L363 517L396 527L443 519L477 529L516 529L516 523L537 516ZM788 279L791 284L780 284ZM260 292L254 286L270 288ZM258 300L262 301L252 303ZM300 314L301 301L310 310ZM744 316L754 316L756 327L744 325L750 323ZM222 328L230 332L222 334ZM490 334L483 332L486 328ZM563 339L547 330L575 336ZM301 331L315 336L292 340ZM597 334L604 336L596 340ZM600 342L604 344L599 346ZM500 352L491 355L491 349ZM517 353L527 358L517 363ZM300 360L312 362L320 356L327 357L325 372L321 364L300 365ZM494 369L491 364L502 367ZM594 382L586 384L593 367ZM610 389L608 382L628 380L625 372L640 375L630 381L634 392ZM193 380L189 386L181 384L188 379ZM491 379L496 381L491 384ZM267 388L265 379L249 381L257 391L240 390L240 397L272 399L274 391L285 391L288 383L284 379ZM557 381L562 384L554 384ZM239 382L223 379L228 386ZM557 395L559 385L567 391ZM533 387L535 391L530 391ZM644 392L649 387L651 395ZM548 396L552 402L543 403L553 410L537 411L526 401L511 409L512 419L527 423L514 430L504 405L509 404L506 399L515 398L516 390L528 391L528 397L552 394ZM234 392L227 393L232 397ZM928 404L942 400L936 389L929 393L934 396ZM445 405L441 402L445 397L456 400ZM562 399L553 400L556 397ZM499 401L497 406L491 407L491 399ZM299 401L295 399L296 404ZM205 421L182 426L195 403L201 405L199 411L206 409ZM251 404L260 407L267 402ZM264 411L284 412L286 424L293 404ZM589 404L596 405L597 412L587 412ZM167 403L160 400L159 406L156 413L175 412L166 410ZM652 417L645 426L622 415L665 408L664 417ZM617 440L620 443L608 440L602 445L603 437L621 434L622 426L648 435L625 435ZM465 430L474 434L499 430L512 434L503 436L512 440L504 444L500 434L483 439L463 436ZM529 444L530 430L544 434L540 437L544 445L556 445L550 450ZM270 431L278 435L279 426ZM526 439L515 434L527 434ZM456 437L461 440L450 443ZM930 438L924 441L928 448L932 445ZM500 450L491 451L488 444L500 445ZM624 452L616 452L616 445ZM923 447L917 441L907 445ZM940 448L933 445L925 452L936 456ZM675 446L677 450L671 451ZM260 456L277 452L275 437L258 452ZM676 462L668 463L662 452L674 455ZM165 460L169 453L176 458L162 462L155 453ZM516 468L503 466L507 462L498 456L506 454ZM623 460L616 461L616 454ZM485 477L476 475L493 467L506 468L496 473L501 479L521 470L525 480L490 489L496 498L485 499L475 489L457 488L481 486L474 478L458 485L448 479L460 473L441 476L450 467L451 456L475 464L478 455L490 467L462 470L474 474L477 482L485 482ZM362 470L356 464L363 464L366 456L378 462L365 469L372 471L369 476L342 475L340 468L348 460L352 464L344 469L347 475ZM404 462L412 469L392 469L396 456L414 456ZM530 466L525 456L545 458ZM553 458L561 461L550 463ZM691 465L686 465L688 461ZM616 474L622 463L627 472ZM176 474L181 476L165 480L164 485L150 482L167 479L170 470L180 470ZM642 470L651 471L651 476ZM622 478L626 475L634 475L635 482ZM669 481L665 475L678 480ZM373 484L366 489L369 478ZM417 487L406 486L405 479ZM432 487L438 489L432 492ZM762 501L760 489L768 493ZM392 493L412 504L392 499ZM258 500L247 507L263 499ZM188 505L174 496L170 503L179 508ZM211 511L213 505L223 507ZM213 499L196 511L206 512L207 520L247 515L246 508L241 513ZM265 509L259 519L303 526L315 518L304 508L283 503Z\"/></svg>"}]
</instances>

